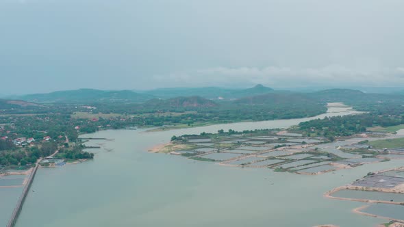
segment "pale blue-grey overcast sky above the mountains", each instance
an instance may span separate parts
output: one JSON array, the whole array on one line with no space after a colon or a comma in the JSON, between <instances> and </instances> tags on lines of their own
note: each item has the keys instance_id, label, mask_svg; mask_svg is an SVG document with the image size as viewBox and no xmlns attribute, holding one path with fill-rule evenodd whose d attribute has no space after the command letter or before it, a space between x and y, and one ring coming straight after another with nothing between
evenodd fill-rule
<instances>
[{"instance_id":1,"label":"pale blue-grey overcast sky above the mountains","mask_svg":"<svg viewBox=\"0 0 404 227\"><path fill-rule=\"evenodd\" d=\"M402 0L0 0L0 94L404 88Z\"/></svg>"}]
</instances>

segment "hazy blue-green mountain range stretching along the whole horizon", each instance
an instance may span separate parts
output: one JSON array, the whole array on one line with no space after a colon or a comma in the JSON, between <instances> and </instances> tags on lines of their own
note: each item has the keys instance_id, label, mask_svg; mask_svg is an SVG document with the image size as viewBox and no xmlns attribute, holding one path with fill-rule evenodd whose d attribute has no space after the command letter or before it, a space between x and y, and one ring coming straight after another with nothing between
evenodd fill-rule
<instances>
[{"instance_id":1,"label":"hazy blue-green mountain range stretching along the whole horizon","mask_svg":"<svg viewBox=\"0 0 404 227\"><path fill-rule=\"evenodd\" d=\"M247 89L228 88L162 88L145 92L131 90L105 91L79 89L47 94L29 94L15 97L17 103L2 101L3 107L34 107L35 103L140 103L140 109L198 109L217 107L222 102L236 105L281 105L284 103L330 103L342 102L349 105L404 100L403 94L373 94L351 89L328 89L318 92L278 91L264 85ZM25 103L23 103L25 102ZM28 105L28 103L31 103Z\"/></svg>"}]
</instances>

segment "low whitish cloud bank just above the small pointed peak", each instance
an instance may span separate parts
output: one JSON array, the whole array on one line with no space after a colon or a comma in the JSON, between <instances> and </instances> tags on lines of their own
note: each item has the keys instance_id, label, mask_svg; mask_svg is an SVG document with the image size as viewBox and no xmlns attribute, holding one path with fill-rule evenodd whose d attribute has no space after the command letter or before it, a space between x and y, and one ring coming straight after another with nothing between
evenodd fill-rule
<instances>
[{"instance_id":1,"label":"low whitish cloud bank just above the small pointed peak","mask_svg":"<svg viewBox=\"0 0 404 227\"><path fill-rule=\"evenodd\" d=\"M338 65L322 68L216 67L155 75L153 79L170 86L183 84L198 87L246 87L257 83L274 87L400 86L404 84L404 67L367 70Z\"/></svg>"}]
</instances>

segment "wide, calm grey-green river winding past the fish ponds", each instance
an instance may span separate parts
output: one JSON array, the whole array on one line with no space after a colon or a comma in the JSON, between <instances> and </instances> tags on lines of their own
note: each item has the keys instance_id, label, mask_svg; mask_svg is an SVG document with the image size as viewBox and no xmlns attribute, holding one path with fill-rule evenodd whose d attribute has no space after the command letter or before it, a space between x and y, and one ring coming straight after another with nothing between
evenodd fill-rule
<instances>
[{"instance_id":1,"label":"wide, calm grey-green river winding past the fish ponds","mask_svg":"<svg viewBox=\"0 0 404 227\"><path fill-rule=\"evenodd\" d=\"M331 107L325 116L353 114ZM218 129L268 129L314 118L221 124L145 133L144 129L100 131L104 149L93 161L41 168L17 227L26 226L376 226L383 219L352 213L359 202L323 198L323 193L367 172L403 165L390 161L318 176L229 168L210 162L147 152L173 135ZM20 189L21 190L21 189Z\"/></svg>"}]
</instances>

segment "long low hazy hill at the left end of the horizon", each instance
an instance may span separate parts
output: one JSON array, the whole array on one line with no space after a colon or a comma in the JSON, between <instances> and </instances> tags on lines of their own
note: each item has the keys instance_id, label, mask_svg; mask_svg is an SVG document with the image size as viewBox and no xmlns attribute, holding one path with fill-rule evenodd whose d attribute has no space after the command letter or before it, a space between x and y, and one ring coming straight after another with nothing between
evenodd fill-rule
<instances>
[{"instance_id":1,"label":"long low hazy hill at the left end of the horizon","mask_svg":"<svg viewBox=\"0 0 404 227\"><path fill-rule=\"evenodd\" d=\"M154 96L149 94L138 94L130 90L103 91L94 89L79 89L47 94L28 94L20 96L25 101L38 103L97 103L97 102L134 102L142 103Z\"/></svg>"}]
</instances>

